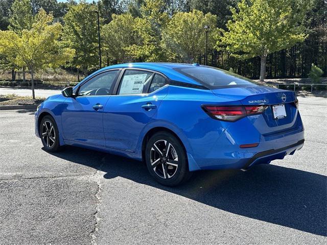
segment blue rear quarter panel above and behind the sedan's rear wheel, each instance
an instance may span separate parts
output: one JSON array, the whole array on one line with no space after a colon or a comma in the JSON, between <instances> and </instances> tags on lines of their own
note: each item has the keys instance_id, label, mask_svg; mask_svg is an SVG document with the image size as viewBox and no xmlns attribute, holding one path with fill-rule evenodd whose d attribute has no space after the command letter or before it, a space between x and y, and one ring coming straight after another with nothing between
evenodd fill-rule
<instances>
[{"instance_id":1,"label":"blue rear quarter panel above and behind the sedan's rear wheel","mask_svg":"<svg viewBox=\"0 0 327 245\"><path fill-rule=\"evenodd\" d=\"M168 95L142 135L152 128L165 127L180 138L188 155L194 158L205 156L216 145L228 122L209 117L201 106L220 103L238 104L237 101L216 96L211 90L170 85Z\"/></svg>"}]
</instances>

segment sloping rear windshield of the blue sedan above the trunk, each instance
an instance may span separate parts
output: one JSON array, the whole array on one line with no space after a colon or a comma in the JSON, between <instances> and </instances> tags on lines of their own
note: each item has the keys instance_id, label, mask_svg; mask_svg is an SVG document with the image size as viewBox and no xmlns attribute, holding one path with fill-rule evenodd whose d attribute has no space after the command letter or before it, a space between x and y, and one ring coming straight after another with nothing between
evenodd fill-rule
<instances>
[{"instance_id":1,"label":"sloping rear windshield of the blue sedan above the trunk","mask_svg":"<svg viewBox=\"0 0 327 245\"><path fill-rule=\"evenodd\" d=\"M175 68L175 70L210 89L252 87L259 85L250 79L215 67L186 66Z\"/></svg>"}]
</instances>

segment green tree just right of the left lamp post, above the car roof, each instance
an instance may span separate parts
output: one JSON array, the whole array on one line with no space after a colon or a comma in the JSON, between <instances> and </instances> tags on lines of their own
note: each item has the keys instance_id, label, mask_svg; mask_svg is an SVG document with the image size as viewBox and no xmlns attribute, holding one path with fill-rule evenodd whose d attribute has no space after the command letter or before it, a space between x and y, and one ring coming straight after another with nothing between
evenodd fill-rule
<instances>
[{"instance_id":1,"label":"green tree just right of the left lamp post, above the car roof","mask_svg":"<svg viewBox=\"0 0 327 245\"><path fill-rule=\"evenodd\" d=\"M122 63L132 61L129 47L138 45L139 37L135 32L135 19L129 13L112 15L112 21L102 28L103 53L107 63Z\"/></svg>"}]
</instances>

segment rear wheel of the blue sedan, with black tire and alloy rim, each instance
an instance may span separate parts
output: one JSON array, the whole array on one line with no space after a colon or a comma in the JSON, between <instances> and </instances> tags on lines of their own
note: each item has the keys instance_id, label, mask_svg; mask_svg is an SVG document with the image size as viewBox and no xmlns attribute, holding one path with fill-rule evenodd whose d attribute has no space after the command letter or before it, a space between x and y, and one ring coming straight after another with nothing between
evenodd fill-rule
<instances>
[{"instance_id":1,"label":"rear wheel of the blue sedan, with black tire and alloy rim","mask_svg":"<svg viewBox=\"0 0 327 245\"><path fill-rule=\"evenodd\" d=\"M145 151L150 175L160 184L176 186L191 177L184 147L173 134L155 133L148 140Z\"/></svg>"}]
</instances>

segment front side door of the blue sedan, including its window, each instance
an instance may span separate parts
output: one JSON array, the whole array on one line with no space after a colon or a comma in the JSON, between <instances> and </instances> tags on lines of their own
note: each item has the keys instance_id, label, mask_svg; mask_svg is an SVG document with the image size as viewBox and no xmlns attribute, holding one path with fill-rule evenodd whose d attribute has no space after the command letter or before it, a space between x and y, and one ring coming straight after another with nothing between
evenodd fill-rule
<instances>
[{"instance_id":1,"label":"front side door of the blue sedan, including its window","mask_svg":"<svg viewBox=\"0 0 327 245\"><path fill-rule=\"evenodd\" d=\"M103 109L110 98L119 69L101 72L91 77L67 98L62 113L65 140L105 146Z\"/></svg>"}]
</instances>

